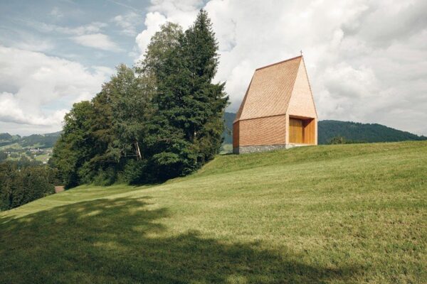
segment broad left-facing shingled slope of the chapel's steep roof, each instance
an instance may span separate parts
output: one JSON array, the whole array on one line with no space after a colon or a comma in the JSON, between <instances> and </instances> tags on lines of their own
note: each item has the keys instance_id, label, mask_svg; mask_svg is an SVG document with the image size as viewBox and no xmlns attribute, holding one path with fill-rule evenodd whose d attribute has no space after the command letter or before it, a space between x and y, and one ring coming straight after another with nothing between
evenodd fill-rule
<instances>
[{"instance_id":1,"label":"broad left-facing shingled slope of the chapel's steep roof","mask_svg":"<svg viewBox=\"0 0 427 284\"><path fill-rule=\"evenodd\" d=\"M285 114L302 56L255 70L235 121Z\"/></svg>"}]
</instances>

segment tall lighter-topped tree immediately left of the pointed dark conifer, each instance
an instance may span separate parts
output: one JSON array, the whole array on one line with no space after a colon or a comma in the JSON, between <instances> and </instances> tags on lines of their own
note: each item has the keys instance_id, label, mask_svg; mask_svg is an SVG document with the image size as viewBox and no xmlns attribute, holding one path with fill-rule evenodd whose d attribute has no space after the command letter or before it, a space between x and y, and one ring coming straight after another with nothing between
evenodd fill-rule
<instances>
[{"instance_id":1,"label":"tall lighter-topped tree immediately left of the pointed dark conifer","mask_svg":"<svg viewBox=\"0 0 427 284\"><path fill-rule=\"evenodd\" d=\"M167 23L154 34L148 45L139 72L154 78L156 90L152 98L153 114L147 123L147 158L152 179L165 180L191 168L195 155L184 131L176 123L181 109L181 88L184 72L180 55L181 27Z\"/></svg>"}]
</instances>

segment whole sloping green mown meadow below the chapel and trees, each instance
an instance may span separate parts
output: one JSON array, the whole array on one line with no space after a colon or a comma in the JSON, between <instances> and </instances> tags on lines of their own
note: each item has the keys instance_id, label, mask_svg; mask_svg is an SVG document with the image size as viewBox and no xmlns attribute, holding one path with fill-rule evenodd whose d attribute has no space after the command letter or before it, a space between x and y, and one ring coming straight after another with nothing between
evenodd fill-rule
<instances>
[{"instance_id":1,"label":"whole sloping green mown meadow below the chapel and trees","mask_svg":"<svg viewBox=\"0 0 427 284\"><path fill-rule=\"evenodd\" d=\"M0 213L1 283L427 283L427 142L221 155Z\"/></svg>"}]
</instances>

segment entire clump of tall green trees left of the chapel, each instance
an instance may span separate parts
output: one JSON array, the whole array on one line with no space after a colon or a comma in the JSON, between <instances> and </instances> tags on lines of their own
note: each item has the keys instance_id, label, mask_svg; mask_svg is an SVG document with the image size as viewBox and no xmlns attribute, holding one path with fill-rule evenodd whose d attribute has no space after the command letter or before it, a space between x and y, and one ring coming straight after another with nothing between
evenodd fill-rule
<instances>
[{"instance_id":1,"label":"entire clump of tall green trees left of the chapel","mask_svg":"<svg viewBox=\"0 0 427 284\"><path fill-rule=\"evenodd\" d=\"M218 44L205 11L183 31L162 26L135 67L66 114L50 163L66 187L186 175L220 151L224 83L213 84Z\"/></svg>"}]
</instances>

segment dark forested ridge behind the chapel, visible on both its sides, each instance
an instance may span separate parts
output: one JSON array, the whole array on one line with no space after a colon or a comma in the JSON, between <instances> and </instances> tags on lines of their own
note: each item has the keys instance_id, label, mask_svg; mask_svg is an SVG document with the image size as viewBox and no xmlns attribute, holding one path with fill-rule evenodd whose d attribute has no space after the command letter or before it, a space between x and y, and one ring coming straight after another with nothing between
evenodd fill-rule
<instances>
[{"instance_id":1,"label":"dark forested ridge behind the chapel, visible on both its sides","mask_svg":"<svg viewBox=\"0 0 427 284\"><path fill-rule=\"evenodd\" d=\"M233 120L236 114L226 112L224 120L226 128L231 134L224 131L224 143L233 142ZM318 143L327 144L334 137L342 137L352 142L395 142L427 140L425 136L418 136L406 131L392 129L381 124L360 124L358 122L323 120L318 124Z\"/></svg>"}]
</instances>

